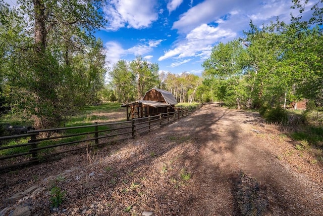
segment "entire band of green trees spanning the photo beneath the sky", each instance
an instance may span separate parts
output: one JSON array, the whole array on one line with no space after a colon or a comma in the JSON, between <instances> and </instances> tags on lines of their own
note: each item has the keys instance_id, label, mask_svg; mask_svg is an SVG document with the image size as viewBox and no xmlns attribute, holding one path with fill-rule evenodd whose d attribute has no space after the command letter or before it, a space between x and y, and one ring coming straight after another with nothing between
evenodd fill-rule
<instances>
[{"instance_id":1,"label":"entire band of green trees spanning the photo beneath the sky","mask_svg":"<svg viewBox=\"0 0 323 216\"><path fill-rule=\"evenodd\" d=\"M307 1L293 0L301 14ZM118 61L106 74L102 41L103 1L0 0L0 112L34 126L57 126L87 104L128 103L151 88L172 92L178 102L220 101L260 108L306 99L323 104L323 1L312 16L277 19L261 28L250 22L245 37L214 46L202 77L159 72L138 56ZM0 115L1 115L0 113Z\"/></svg>"}]
</instances>

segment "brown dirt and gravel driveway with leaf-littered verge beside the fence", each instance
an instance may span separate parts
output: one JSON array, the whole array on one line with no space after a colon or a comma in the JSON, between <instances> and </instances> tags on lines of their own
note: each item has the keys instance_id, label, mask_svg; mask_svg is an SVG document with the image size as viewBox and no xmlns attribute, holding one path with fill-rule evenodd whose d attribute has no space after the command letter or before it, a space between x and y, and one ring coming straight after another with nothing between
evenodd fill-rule
<instances>
[{"instance_id":1,"label":"brown dirt and gravel driveway with leaf-littered verge beside the fence","mask_svg":"<svg viewBox=\"0 0 323 216\"><path fill-rule=\"evenodd\" d=\"M323 166L294 145L257 113L209 104L134 140L2 174L0 210L38 185L7 213L27 203L33 215L323 215ZM67 194L51 212L60 174Z\"/></svg>"}]
</instances>

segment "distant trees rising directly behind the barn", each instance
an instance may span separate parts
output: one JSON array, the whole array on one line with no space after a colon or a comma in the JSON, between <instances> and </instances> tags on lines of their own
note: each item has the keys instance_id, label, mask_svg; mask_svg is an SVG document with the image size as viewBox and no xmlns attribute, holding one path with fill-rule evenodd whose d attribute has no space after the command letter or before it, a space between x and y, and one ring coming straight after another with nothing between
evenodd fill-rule
<instances>
[{"instance_id":1,"label":"distant trees rising directly behind the barn","mask_svg":"<svg viewBox=\"0 0 323 216\"><path fill-rule=\"evenodd\" d=\"M200 99L200 77L187 72L172 74L158 71L157 63L149 63L141 56L131 62L119 60L109 71L110 84L106 88L110 91L106 91L105 99L126 104L141 100L151 88L168 90L180 103Z\"/></svg>"}]
</instances>

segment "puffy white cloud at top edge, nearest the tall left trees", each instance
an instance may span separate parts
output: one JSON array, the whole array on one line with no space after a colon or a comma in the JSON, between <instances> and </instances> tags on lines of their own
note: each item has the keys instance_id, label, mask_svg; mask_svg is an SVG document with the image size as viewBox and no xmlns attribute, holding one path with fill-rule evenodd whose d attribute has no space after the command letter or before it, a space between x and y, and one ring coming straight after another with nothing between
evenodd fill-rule
<instances>
[{"instance_id":1,"label":"puffy white cloud at top edge, nearest the tall left trees","mask_svg":"<svg viewBox=\"0 0 323 216\"><path fill-rule=\"evenodd\" d=\"M108 20L109 30L121 27L141 29L157 20L155 0L112 0L104 8L105 18Z\"/></svg>"}]
</instances>

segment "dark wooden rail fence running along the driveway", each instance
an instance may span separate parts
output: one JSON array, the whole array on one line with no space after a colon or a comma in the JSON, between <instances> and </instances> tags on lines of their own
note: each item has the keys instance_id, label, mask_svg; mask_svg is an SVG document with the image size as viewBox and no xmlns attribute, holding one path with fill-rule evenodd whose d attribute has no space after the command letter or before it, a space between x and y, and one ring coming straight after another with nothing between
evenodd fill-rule
<instances>
[{"instance_id":1,"label":"dark wooden rail fence running along the driveway","mask_svg":"<svg viewBox=\"0 0 323 216\"><path fill-rule=\"evenodd\" d=\"M199 109L201 105L191 106L170 113L131 121L114 123L97 122L91 125L30 130L27 134L0 137L0 170L10 169L29 163L40 162L56 155L104 146L146 134L162 125L169 124ZM76 129L90 131L70 133ZM29 138L29 139L28 139ZM72 139L72 140L71 140ZM19 143L25 140L24 143ZM8 145L10 141L14 145Z\"/></svg>"}]
</instances>

